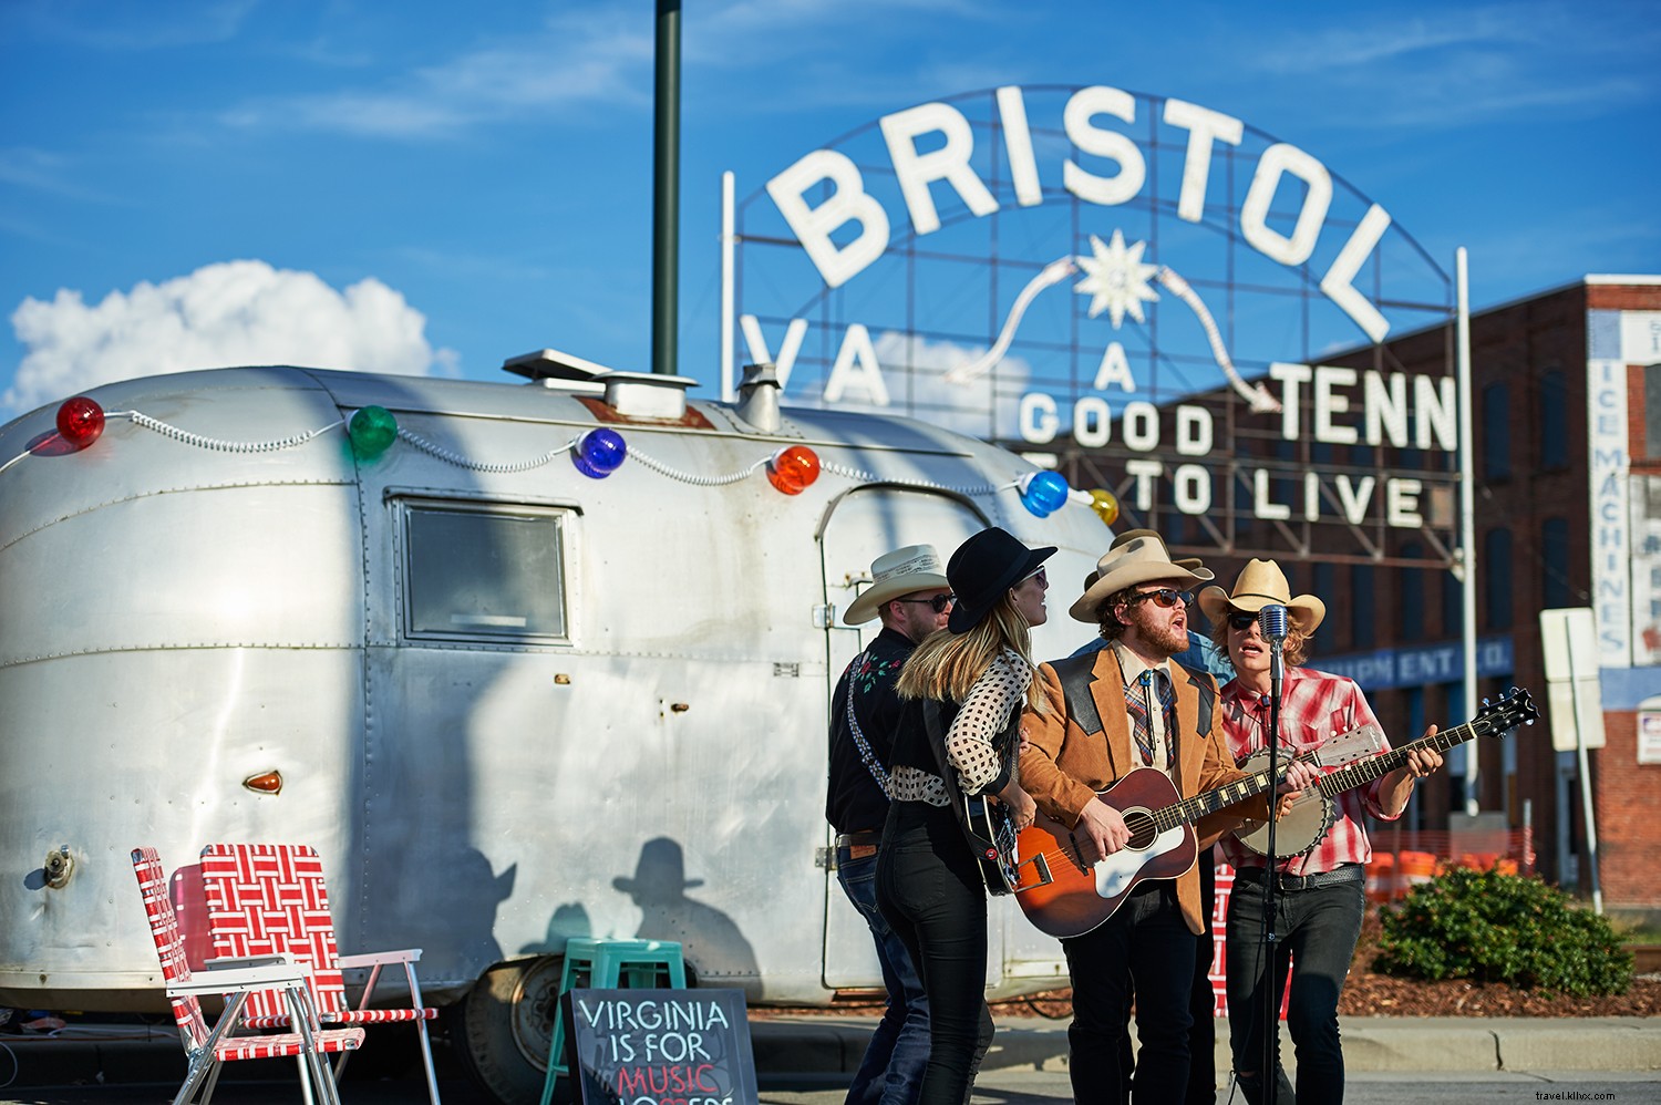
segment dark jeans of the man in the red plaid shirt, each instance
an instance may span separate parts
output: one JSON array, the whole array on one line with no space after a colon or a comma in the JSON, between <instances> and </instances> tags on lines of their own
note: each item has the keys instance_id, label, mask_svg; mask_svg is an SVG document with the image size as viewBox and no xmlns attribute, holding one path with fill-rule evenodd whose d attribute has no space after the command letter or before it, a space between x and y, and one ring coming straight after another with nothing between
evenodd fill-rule
<instances>
[{"instance_id":1,"label":"dark jeans of the man in the red plaid shirt","mask_svg":"<svg viewBox=\"0 0 1661 1105\"><path fill-rule=\"evenodd\" d=\"M1286 1027L1297 1049L1297 1100L1302 1105L1344 1100L1344 1045L1339 1040L1339 992L1355 955L1362 916L1367 911L1364 882L1319 886L1307 891L1274 892L1274 980L1276 1012L1286 987L1287 957L1292 960L1292 995ZM1229 1047L1241 1092L1251 1105L1262 1100L1264 1067L1264 887L1256 879L1234 879L1229 896ZM1276 1102L1291 1105L1292 1087L1286 1070L1276 1070Z\"/></svg>"}]
</instances>

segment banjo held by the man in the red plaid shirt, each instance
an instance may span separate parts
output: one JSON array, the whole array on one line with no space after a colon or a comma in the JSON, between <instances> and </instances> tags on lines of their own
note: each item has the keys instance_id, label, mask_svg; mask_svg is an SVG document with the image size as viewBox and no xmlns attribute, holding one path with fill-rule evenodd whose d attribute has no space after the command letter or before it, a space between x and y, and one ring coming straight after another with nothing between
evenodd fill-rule
<instances>
[{"instance_id":1,"label":"banjo held by the man in the red plaid shirt","mask_svg":"<svg viewBox=\"0 0 1661 1105\"><path fill-rule=\"evenodd\" d=\"M1394 748L1384 754L1369 754L1367 759L1320 776L1320 781L1314 788L1299 794L1292 803L1291 811L1276 823L1274 857L1291 859L1314 851L1316 844L1319 844L1332 828L1332 823L1337 821L1337 803L1334 803L1332 798L1395 771L1407 763L1407 754L1415 748L1432 748L1440 753L1453 748L1455 744L1463 744L1473 736L1505 736L1520 724L1533 724L1538 718L1540 711L1535 710L1533 698L1530 698L1528 691L1513 686L1500 698L1500 701L1485 701L1482 713L1478 713L1468 724L1447 729L1445 733L1437 733L1435 736L1420 738L1412 744ZM1370 723L1332 739L1347 741L1357 733L1364 733L1367 729L1372 731L1370 739L1374 741L1374 753L1377 753L1384 748L1384 733L1379 731L1379 726ZM1330 743L1332 741L1327 741L1320 748L1325 749ZM1320 766L1327 766L1330 759L1327 756L1320 756L1319 763ZM1244 763L1241 763L1241 768L1246 771L1261 771L1267 766L1267 749L1252 753ZM1259 856L1269 854L1267 821L1247 821L1234 831L1234 836L1241 844Z\"/></svg>"}]
</instances>

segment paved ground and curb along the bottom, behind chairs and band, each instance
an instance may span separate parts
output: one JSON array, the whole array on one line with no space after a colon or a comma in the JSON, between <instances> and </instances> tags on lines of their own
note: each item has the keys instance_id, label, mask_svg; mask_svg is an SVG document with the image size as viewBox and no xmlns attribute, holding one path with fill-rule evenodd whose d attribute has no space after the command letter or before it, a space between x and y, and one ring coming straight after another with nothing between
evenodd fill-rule
<instances>
[{"instance_id":1,"label":"paved ground and curb along the bottom, behind chairs and band","mask_svg":"<svg viewBox=\"0 0 1661 1105\"><path fill-rule=\"evenodd\" d=\"M751 1020L766 1105L840 1105L847 1078L875 1019L791 1015ZM1219 1082L1227 1077L1227 1022L1218 1022ZM445 1047L434 1049L447 1105L483 1098L460 1077ZM1661 1017L1360 1017L1344 1020L1345 1098L1355 1105L1418 1102L1634 1102L1661 1103ZM364 1053L367 1057L369 1052ZM1296 1053L1284 1044L1287 1067ZM354 1060L359 1062L359 1060ZM417 1068L392 1080L355 1078L347 1105L424 1102ZM171 1025L71 1024L51 1035L0 1035L0 1105L128 1105L171 1100L183 1052ZM287 1070L267 1082L223 1082L219 1102L299 1100ZM229 1078L229 1072L228 1072ZM975 1098L982 1105L1071 1100L1066 1022L1000 1019ZM1226 1082L1218 1102L1227 1102ZM1234 1102L1239 1102L1234 1095Z\"/></svg>"}]
</instances>

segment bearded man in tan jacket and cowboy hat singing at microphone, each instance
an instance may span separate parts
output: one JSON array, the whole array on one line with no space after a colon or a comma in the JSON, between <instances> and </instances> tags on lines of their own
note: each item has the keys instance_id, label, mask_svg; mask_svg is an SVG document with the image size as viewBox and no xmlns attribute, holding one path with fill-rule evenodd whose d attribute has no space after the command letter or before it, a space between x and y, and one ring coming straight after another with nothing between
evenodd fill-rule
<instances>
[{"instance_id":1,"label":"bearded man in tan jacket and cowboy hat singing at microphone","mask_svg":"<svg viewBox=\"0 0 1661 1105\"><path fill-rule=\"evenodd\" d=\"M1095 623L1108 645L1093 655L1040 665L1043 708L1028 713L1022 784L1071 832L1090 864L1131 839L1124 818L1096 791L1139 768L1163 773L1176 796L1191 798L1239 779L1213 721L1216 681L1171 665L1188 641L1188 588L1211 578L1171 560L1158 535L1116 543L1096 562L1096 578L1068 610ZM1307 784L1294 764L1286 789ZM1227 813L1266 818L1262 798ZM1073 979L1070 1073L1078 1102L1123 1102L1120 1042L1129 994L1136 995L1136 1102L1181 1102L1189 1078L1189 999L1194 937L1209 931L1199 874L1141 881L1106 921L1061 940Z\"/></svg>"}]
</instances>

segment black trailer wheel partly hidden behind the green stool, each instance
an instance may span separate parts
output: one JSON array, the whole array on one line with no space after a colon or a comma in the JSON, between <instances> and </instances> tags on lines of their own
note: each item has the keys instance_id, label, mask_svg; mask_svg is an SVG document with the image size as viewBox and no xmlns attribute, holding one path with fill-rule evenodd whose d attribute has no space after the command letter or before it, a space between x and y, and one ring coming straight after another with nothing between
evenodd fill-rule
<instances>
[{"instance_id":1,"label":"black trailer wheel partly hidden behind the green stool","mask_svg":"<svg viewBox=\"0 0 1661 1105\"><path fill-rule=\"evenodd\" d=\"M497 964L452 1005L457 1052L473 1080L503 1105L538 1105L558 1015L558 955ZM568 1078L558 1100L568 1100Z\"/></svg>"}]
</instances>

